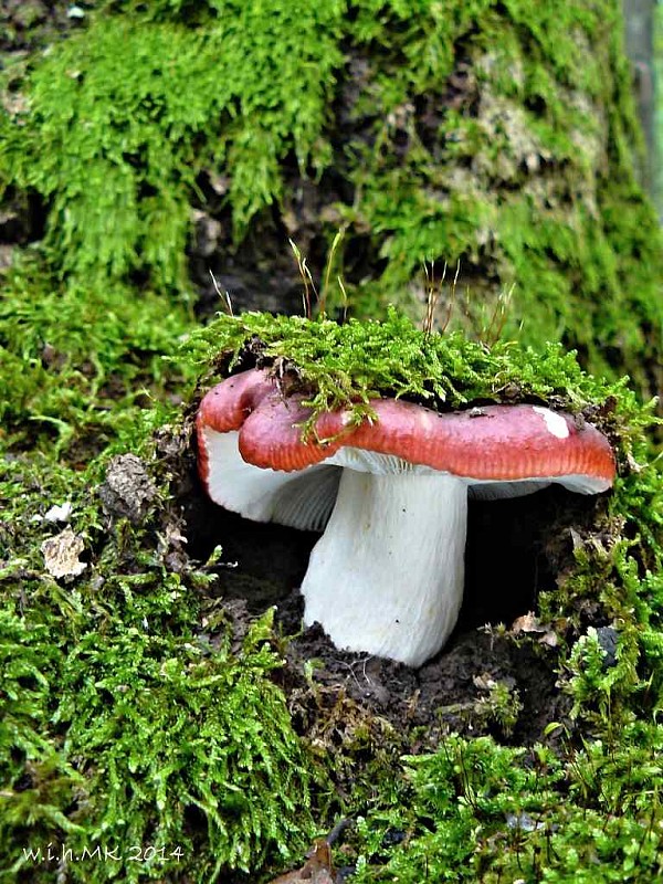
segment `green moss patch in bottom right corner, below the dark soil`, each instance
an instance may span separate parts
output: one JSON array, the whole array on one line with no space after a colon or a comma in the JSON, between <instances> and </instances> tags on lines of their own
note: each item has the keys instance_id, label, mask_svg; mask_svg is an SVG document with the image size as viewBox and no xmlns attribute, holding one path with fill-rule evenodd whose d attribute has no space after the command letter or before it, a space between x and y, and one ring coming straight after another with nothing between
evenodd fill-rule
<instances>
[{"instance_id":1,"label":"green moss patch in bottom right corner, below the dark soil","mask_svg":"<svg viewBox=\"0 0 663 884\"><path fill-rule=\"evenodd\" d=\"M663 808L650 788L663 733L639 726L622 739L560 761L541 746L450 737L435 755L406 759L409 788L359 823L357 881L654 880Z\"/></svg>"}]
</instances>

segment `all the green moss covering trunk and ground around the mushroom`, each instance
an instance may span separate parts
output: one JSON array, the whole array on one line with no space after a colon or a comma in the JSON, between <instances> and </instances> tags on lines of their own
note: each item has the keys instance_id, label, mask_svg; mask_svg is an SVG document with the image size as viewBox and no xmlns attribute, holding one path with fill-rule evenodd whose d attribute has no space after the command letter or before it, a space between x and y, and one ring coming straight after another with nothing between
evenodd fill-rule
<instances>
[{"instance_id":1,"label":"all the green moss covering trunk and ground around the mushroom","mask_svg":"<svg viewBox=\"0 0 663 884\"><path fill-rule=\"evenodd\" d=\"M1 44L0 878L269 881L346 814L357 881L655 880L663 484L642 402L661 387L663 264L619 4L115 0L60 10L57 31L32 6ZM219 306L208 266L298 301L287 239L317 281L339 231L328 315L383 322L198 330ZM442 337L407 318L422 261ZM615 493L538 600L572 709L540 745L503 726L402 758L431 746L356 709L351 737L316 741L270 615L238 634L210 613L218 573L180 535L187 406L252 336L317 407L515 385L610 434ZM155 488L137 522L99 496L126 451ZM65 501L85 568L56 579L42 544ZM502 725L518 714L517 696L491 703ZM154 851L24 853L50 842Z\"/></svg>"}]
</instances>

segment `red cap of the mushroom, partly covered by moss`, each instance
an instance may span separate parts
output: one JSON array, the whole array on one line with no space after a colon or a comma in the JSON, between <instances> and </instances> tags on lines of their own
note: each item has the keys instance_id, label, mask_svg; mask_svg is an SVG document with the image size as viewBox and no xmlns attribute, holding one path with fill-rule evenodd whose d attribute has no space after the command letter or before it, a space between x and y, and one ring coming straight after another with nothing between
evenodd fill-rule
<instances>
[{"instance_id":1,"label":"red cap of the mushroom, partly covered by moss","mask_svg":"<svg viewBox=\"0 0 663 884\"><path fill-rule=\"evenodd\" d=\"M347 409L326 412L316 420L317 438L303 441L301 424L311 410L302 400L297 394L284 398L276 383L255 369L210 390L198 414L203 482L210 470L208 430L238 430L239 451L246 463L286 473L324 461L350 465L349 452L338 454L352 449L469 483L537 480L591 494L607 491L614 480L614 455L606 436L583 420L540 406L436 412L412 402L375 399L370 403L375 419L356 425ZM369 469L367 462L365 457L359 469Z\"/></svg>"}]
</instances>

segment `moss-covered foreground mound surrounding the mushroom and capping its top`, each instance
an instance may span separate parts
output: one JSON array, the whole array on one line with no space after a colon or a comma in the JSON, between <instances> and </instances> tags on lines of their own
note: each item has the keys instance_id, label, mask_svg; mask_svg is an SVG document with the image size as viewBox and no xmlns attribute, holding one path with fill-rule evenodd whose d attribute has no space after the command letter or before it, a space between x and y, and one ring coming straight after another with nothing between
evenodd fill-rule
<instances>
[{"instance_id":1,"label":"moss-covered foreground mound surrounding the mushroom and capping its top","mask_svg":"<svg viewBox=\"0 0 663 884\"><path fill-rule=\"evenodd\" d=\"M646 463L651 408L557 346L537 355L427 335L396 313L345 326L219 317L182 347L185 370L206 367L201 389L259 364L293 378L316 409L359 406L358 419L386 392L441 409L569 408L610 435L619 478L577 520L557 522L564 536L548 529L557 570L538 599L532 591L533 628L469 629L408 673L329 649L315 630L286 642L269 612L248 617L229 600L241 567L217 548L192 557L193 514L207 505L196 397L169 425L144 409L123 434L133 453L104 452L85 470L25 450L22 434L4 440L2 871L270 881L344 814L355 827L343 855L359 881L419 881L430 862L440 880L653 874L663 482ZM13 413L17 427L29 421ZM520 680L525 666L545 693Z\"/></svg>"}]
</instances>

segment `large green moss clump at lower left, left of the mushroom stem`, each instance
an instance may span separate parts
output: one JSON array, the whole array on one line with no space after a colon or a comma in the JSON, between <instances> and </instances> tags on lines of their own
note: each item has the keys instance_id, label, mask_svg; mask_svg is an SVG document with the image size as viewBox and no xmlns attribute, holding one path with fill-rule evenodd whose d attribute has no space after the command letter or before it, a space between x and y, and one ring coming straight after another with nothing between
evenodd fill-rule
<instances>
[{"instance_id":1,"label":"large green moss clump at lower left, left of the mushroom stem","mask_svg":"<svg viewBox=\"0 0 663 884\"><path fill-rule=\"evenodd\" d=\"M311 839L322 780L272 680L270 615L241 645L217 615L212 643L194 591L212 578L168 566L166 497L141 528L109 529L97 471L2 467L0 871L51 881L63 851L87 850L65 863L72 881L257 873ZM65 499L87 559L75 580L40 552ZM34 859L50 843L56 860Z\"/></svg>"}]
</instances>

